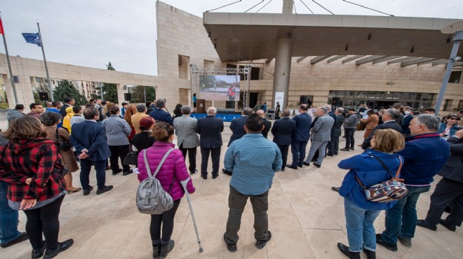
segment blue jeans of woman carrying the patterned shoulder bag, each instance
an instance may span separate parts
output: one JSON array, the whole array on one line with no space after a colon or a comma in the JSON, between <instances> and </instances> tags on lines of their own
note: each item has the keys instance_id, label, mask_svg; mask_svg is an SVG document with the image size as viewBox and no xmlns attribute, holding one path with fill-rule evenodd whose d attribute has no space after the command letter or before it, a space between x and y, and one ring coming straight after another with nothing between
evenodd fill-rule
<instances>
[{"instance_id":1,"label":"blue jeans of woman carrying the patterned shoulder bag","mask_svg":"<svg viewBox=\"0 0 463 259\"><path fill-rule=\"evenodd\" d=\"M365 249L376 251L376 234L373 222L380 215L380 212L363 209L349 199L344 198L349 251L360 252L363 244L365 244Z\"/></svg>"}]
</instances>

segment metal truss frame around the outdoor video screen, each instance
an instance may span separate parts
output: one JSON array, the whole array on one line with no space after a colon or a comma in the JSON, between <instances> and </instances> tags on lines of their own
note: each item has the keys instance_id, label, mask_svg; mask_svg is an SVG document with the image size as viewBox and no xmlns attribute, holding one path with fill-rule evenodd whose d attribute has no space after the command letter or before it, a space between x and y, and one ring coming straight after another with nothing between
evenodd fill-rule
<instances>
[{"instance_id":1,"label":"metal truss frame around the outdoor video screen","mask_svg":"<svg viewBox=\"0 0 463 259\"><path fill-rule=\"evenodd\" d=\"M192 93L198 92L198 75L244 75L243 89L243 108L248 107L248 94L250 89L250 65L244 66L243 69L227 69L227 68L199 68L196 64L190 64L190 73L192 78ZM241 81L243 82L243 81ZM241 89L241 87L240 87ZM241 91L241 90L240 90Z\"/></svg>"}]
</instances>

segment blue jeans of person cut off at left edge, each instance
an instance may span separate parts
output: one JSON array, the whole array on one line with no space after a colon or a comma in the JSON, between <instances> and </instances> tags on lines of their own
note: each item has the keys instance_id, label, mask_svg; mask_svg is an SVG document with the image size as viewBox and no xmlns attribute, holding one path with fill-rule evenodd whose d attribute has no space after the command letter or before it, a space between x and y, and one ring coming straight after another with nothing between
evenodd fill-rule
<instances>
[{"instance_id":1,"label":"blue jeans of person cut off at left edge","mask_svg":"<svg viewBox=\"0 0 463 259\"><path fill-rule=\"evenodd\" d=\"M18 231L18 211L8 206L7 192L8 183L0 181L0 244L13 241L21 235Z\"/></svg>"}]
</instances>

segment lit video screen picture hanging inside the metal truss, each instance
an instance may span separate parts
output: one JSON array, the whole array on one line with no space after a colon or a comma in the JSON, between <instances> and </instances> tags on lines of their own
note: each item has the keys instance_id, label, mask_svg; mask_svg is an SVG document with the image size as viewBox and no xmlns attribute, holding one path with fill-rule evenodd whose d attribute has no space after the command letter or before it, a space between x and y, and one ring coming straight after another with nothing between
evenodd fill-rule
<instances>
[{"instance_id":1,"label":"lit video screen picture hanging inside the metal truss","mask_svg":"<svg viewBox=\"0 0 463 259\"><path fill-rule=\"evenodd\" d=\"M199 99L239 101L239 76L199 76Z\"/></svg>"}]
</instances>

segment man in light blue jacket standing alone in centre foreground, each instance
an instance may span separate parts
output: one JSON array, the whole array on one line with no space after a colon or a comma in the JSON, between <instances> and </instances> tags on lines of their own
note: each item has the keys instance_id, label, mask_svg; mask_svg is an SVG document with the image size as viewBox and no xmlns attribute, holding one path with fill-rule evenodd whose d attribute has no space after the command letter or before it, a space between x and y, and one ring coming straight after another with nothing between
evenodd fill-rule
<instances>
[{"instance_id":1,"label":"man in light blue jacket standing alone in centre foreground","mask_svg":"<svg viewBox=\"0 0 463 259\"><path fill-rule=\"evenodd\" d=\"M255 246L264 248L271 239L269 231L269 189L275 172L281 169L281 153L278 146L265 139L261 132L264 120L257 114L251 114L246 120L248 134L234 141L225 153L224 166L233 171L230 181L229 214L224 240L230 252L235 252L241 215L250 198L254 212Z\"/></svg>"}]
</instances>

